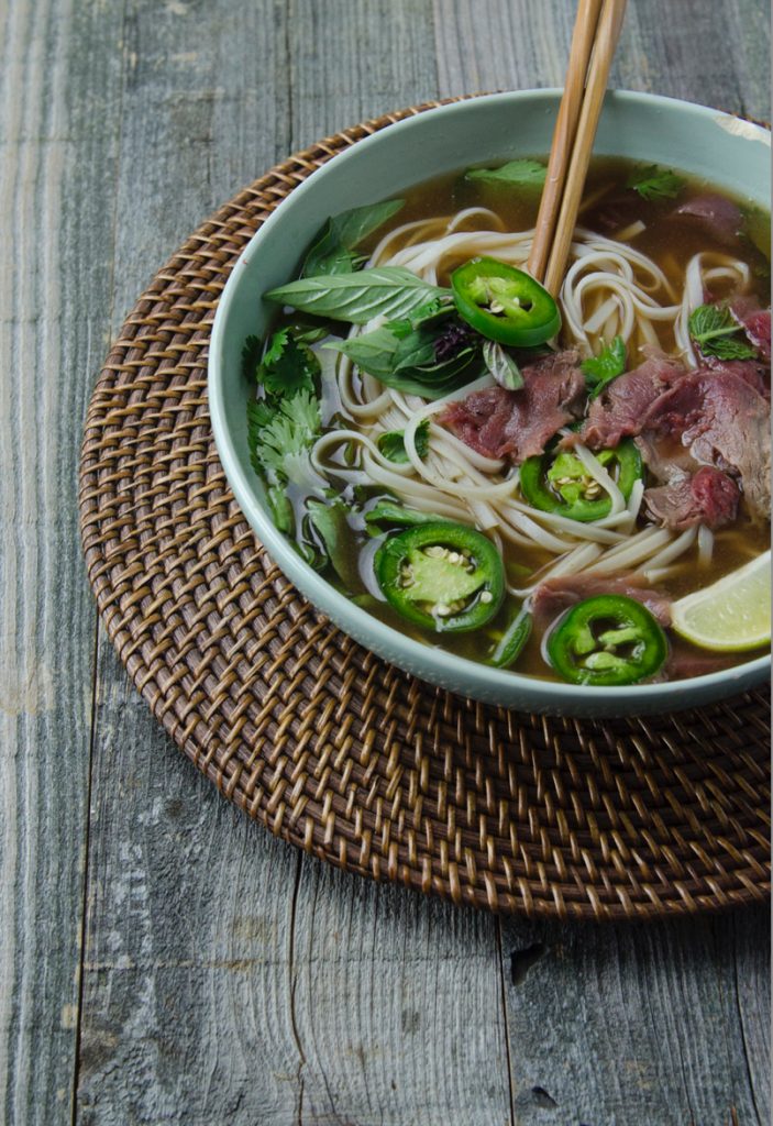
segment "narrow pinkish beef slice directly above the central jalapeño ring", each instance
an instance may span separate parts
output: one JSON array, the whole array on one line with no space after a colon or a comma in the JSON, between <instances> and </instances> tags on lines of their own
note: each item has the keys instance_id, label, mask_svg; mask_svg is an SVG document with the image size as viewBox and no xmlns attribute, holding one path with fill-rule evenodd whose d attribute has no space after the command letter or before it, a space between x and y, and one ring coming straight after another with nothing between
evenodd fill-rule
<instances>
[{"instance_id":1,"label":"narrow pinkish beef slice directly above the central jalape\u00f1o ring","mask_svg":"<svg viewBox=\"0 0 773 1126\"><path fill-rule=\"evenodd\" d=\"M584 443L591 449L608 449L622 438L640 434L653 405L675 383L686 376L678 360L660 354L649 356L644 364L619 376L594 399L583 429L561 443L572 446Z\"/></svg>"}]
</instances>

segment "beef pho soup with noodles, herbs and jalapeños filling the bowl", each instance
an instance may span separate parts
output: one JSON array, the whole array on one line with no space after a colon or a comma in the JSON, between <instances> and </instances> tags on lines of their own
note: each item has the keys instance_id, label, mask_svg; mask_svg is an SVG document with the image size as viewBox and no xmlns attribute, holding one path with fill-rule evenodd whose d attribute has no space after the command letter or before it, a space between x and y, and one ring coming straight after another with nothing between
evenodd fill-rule
<instances>
[{"instance_id":1,"label":"beef pho soup with noodles, herbs and jalape\u00f1os filling the bowl","mask_svg":"<svg viewBox=\"0 0 773 1126\"><path fill-rule=\"evenodd\" d=\"M768 546L770 218L597 159L554 301L525 272L543 181L518 160L334 216L263 295L273 519L352 601L482 663L609 686L746 661L764 628L674 626Z\"/></svg>"}]
</instances>

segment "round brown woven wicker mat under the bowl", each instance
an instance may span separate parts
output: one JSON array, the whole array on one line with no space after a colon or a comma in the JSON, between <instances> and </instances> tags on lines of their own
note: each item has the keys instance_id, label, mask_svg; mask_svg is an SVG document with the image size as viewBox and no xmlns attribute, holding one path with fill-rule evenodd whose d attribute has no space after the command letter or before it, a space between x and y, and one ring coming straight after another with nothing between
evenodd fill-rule
<instances>
[{"instance_id":1,"label":"round brown woven wicker mat under the bowl","mask_svg":"<svg viewBox=\"0 0 773 1126\"><path fill-rule=\"evenodd\" d=\"M91 400L83 544L99 610L171 738L271 832L332 864L500 911L654 918L767 890L767 697L573 721L385 664L271 564L215 452L207 345L245 242L315 168L421 109L272 169L204 223L126 321Z\"/></svg>"}]
</instances>

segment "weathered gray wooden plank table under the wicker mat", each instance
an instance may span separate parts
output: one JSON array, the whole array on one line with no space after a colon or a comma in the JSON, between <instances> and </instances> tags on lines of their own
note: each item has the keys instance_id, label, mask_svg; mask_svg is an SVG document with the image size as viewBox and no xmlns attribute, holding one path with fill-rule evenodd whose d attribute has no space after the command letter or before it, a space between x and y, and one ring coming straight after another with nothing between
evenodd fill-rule
<instances>
[{"instance_id":1,"label":"weathered gray wooden plank table under the wicker mat","mask_svg":"<svg viewBox=\"0 0 773 1126\"><path fill-rule=\"evenodd\" d=\"M534 924L309 860L156 727L81 561L90 388L168 254L322 135L559 84L573 10L0 3L0 1120L768 1121L765 910ZM630 0L613 84L764 118L768 45L765 0Z\"/></svg>"}]
</instances>

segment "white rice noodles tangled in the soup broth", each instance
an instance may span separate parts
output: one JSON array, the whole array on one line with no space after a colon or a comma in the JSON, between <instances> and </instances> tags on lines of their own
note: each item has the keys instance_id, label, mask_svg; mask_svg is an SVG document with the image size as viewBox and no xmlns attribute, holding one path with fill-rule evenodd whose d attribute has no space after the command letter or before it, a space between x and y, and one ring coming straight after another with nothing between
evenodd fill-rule
<instances>
[{"instance_id":1,"label":"white rice noodles tangled in the soup broth","mask_svg":"<svg viewBox=\"0 0 773 1126\"><path fill-rule=\"evenodd\" d=\"M642 230L644 224L637 222L614 239L582 226L575 230L559 294L564 341L590 355L597 352L602 340L619 334L628 346L630 366L645 345L677 351L694 365L691 313L702 304L711 285L719 283L743 292L749 283L748 267L729 254L695 254L687 262L677 297L660 267L624 241ZM477 254L523 267L532 239L533 230L509 232L494 212L468 207L452 216L416 220L394 229L380 240L368 265L402 266L437 283L455 265ZM350 336L370 331L383 320L353 327ZM637 570L653 580L668 573L675 561L693 549L699 565L708 565L711 558L713 536L703 526L681 534L653 526L636 531L644 482L635 482L626 500L611 474L583 445L576 446L574 454L609 495L609 513L583 524L525 503L518 471L507 462L471 449L435 421L450 402L493 386L489 375L433 402L385 388L372 376L358 375L343 355L336 357L335 378L342 409L353 425L317 439L312 455L317 472L348 482L366 481L390 490L421 511L477 525L500 545L506 542L538 549L542 558L546 553L552 556L523 586L509 584L520 597L550 577ZM421 457L416 434L425 421L430 425L429 449ZM379 450L378 437L389 430L403 431L407 462L390 462ZM354 464L331 464L331 454L347 444L358 452Z\"/></svg>"}]
</instances>

